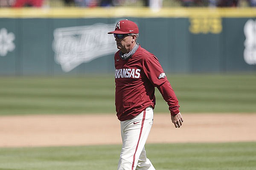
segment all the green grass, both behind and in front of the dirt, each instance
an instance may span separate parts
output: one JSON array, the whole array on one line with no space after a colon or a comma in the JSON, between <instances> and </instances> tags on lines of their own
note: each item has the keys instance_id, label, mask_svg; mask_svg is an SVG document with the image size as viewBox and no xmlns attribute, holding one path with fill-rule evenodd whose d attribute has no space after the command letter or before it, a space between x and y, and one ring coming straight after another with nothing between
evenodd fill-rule
<instances>
[{"instance_id":1,"label":"all the green grass, both behind and in front of the dirt","mask_svg":"<svg viewBox=\"0 0 256 170\"><path fill-rule=\"evenodd\" d=\"M170 75L183 113L256 113L256 75ZM113 76L0 77L0 115L111 113ZM156 90L155 112L168 112ZM115 170L121 145L0 148L0 170ZM157 170L256 170L256 142L147 144Z\"/></svg>"}]
</instances>

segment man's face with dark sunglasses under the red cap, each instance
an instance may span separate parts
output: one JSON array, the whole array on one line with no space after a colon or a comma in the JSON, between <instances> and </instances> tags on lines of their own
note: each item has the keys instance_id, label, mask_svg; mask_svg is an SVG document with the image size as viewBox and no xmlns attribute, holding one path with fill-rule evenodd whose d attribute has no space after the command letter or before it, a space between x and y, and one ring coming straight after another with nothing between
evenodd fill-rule
<instances>
[{"instance_id":1,"label":"man's face with dark sunglasses under the red cap","mask_svg":"<svg viewBox=\"0 0 256 170\"><path fill-rule=\"evenodd\" d=\"M130 47L133 40L132 34L114 34L116 46L123 53L131 51Z\"/></svg>"}]
</instances>

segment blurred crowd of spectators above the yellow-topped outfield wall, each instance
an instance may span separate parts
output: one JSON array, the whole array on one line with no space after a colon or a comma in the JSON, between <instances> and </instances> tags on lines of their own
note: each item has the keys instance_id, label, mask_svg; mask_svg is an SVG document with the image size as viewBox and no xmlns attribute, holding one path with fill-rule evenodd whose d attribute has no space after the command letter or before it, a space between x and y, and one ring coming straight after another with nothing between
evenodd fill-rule
<instances>
[{"instance_id":1,"label":"blurred crowd of spectators above the yellow-topped outfield wall","mask_svg":"<svg viewBox=\"0 0 256 170\"><path fill-rule=\"evenodd\" d=\"M256 0L0 0L0 7L109 7L109 6L256 6Z\"/></svg>"}]
</instances>

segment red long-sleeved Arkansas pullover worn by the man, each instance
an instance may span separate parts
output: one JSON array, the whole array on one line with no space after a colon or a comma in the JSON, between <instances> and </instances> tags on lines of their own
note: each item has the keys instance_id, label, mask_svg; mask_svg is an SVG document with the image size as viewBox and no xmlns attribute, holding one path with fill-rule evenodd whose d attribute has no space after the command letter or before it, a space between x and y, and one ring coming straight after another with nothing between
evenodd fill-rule
<instances>
[{"instance_id":1,"label":"red long-sleeved Arkansas pullover worn by the man","mask_svg":"<svg viewBox=\"0 0 256 170\"><path fill-rule=\"evenodd\" d=\"M155 87L169 105L172 115L179 113L177 97L158 59L141 46L130 59L115 54L116 115L120 121L132 119L148 106L154 108Z\"/></svg>"}]
</instances>

